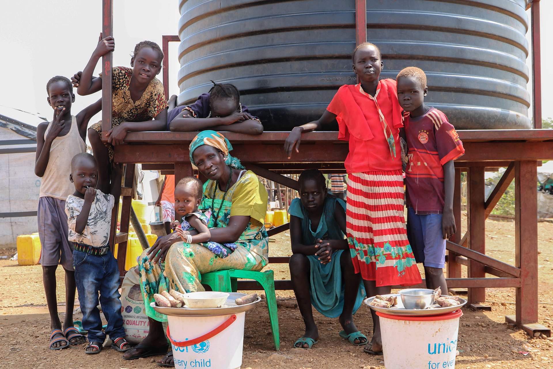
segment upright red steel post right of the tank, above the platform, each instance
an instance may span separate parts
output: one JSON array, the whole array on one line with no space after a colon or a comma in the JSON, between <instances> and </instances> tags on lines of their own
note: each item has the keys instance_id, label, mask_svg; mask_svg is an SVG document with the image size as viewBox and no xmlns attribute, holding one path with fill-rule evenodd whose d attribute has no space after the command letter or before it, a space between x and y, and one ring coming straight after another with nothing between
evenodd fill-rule
<instances>
[{"instance_id":1,"label":"upright red steel post right of the tank, above the platform","mask_svg":"<svg viewBox=\"0 0 553 369\"><path fill-rule=\"evenodd\" d=\"M532 30L532 117L534 128L541 128L541 40L540 40L540 1L530 4Z\"/></svg>"}]
</instances>

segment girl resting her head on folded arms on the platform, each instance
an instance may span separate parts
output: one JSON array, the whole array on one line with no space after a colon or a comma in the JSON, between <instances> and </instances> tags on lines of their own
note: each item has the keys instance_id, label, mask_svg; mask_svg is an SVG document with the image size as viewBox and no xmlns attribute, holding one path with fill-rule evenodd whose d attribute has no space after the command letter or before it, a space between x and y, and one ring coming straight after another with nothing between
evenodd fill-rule
<instances>
[{"instance_id":1,"label":"girl resting her head on folded arms on the platform","mask_svg":"<svg viewBox=\"0 0 553 369\"><path fill-rule=\"evenodd\" d=\"M211 81L213 82L213 81ZM192 105L174 107L176 95L169 99L167 130L196 132L204 129L246 134L262 134L261 121L240 103L240 93L231 84L216 84L202 93ZM193 119L200 118L200 119Z\"/></svg>"}]
</instances>

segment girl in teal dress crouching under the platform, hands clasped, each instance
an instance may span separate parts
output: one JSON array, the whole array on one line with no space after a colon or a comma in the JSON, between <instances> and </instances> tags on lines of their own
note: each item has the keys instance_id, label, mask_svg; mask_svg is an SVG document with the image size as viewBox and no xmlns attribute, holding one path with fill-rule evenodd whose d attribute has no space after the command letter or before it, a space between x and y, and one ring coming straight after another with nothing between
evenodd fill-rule
<instances>
[{"instance_id":1,"label":"girl in teal dress crouching under the platform, hands clasped","mask_svg":"<svg viewBox=\"0 0 553 369\"><path fill-rule=\"evenodd\" d=\"M299 184L300 198L288 210L293 252L290 277L305 334L294 346L310 349L319 340L311 305L328 318L340 318L341 337L364 345L367 337L357 330L352 316L363 301L364 289L347 251L346 203L327 196L326 180L319 170L304 170Z\"/></svg>"}]
</instances>

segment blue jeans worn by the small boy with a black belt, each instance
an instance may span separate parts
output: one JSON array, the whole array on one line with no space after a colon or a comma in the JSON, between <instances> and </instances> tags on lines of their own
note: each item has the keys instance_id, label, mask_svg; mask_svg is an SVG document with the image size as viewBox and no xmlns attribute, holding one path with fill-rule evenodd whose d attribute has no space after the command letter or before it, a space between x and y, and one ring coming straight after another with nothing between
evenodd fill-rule
<instances>
[{"instance_id":1,"label":"blue jeans worn by the small boy with a black belt","mask_svg":"<svg viewBox=\"0 0 553 369\"><path fill-rule=\"evenodd\" d=\"M112 340L126 336L121 316L121 294L119 294L119 269L113 254L91 255L73 250L75 283L79 293L82 311L82 329L88 331L89 342L102 342L106 334ZM102 320L98 306L100 304L107 320L106 332L102 332Z\"/></svg>"}]
</instances>

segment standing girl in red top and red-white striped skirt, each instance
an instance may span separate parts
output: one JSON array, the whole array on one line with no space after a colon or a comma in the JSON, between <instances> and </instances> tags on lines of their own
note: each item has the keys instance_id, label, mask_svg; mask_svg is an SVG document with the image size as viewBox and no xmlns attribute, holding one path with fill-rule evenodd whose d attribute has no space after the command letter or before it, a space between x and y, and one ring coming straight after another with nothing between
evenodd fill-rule
<instances>
[{"instance_id":1,"label":"standing girl in red top and red-white striped skirt","mask_svg":"<svg viewBox=\"0 0 553 369\"><path fill-rule=\"evenodd\" d=\"M421 283L405 231L399 128L401 107L394 80L379 80L380 50L364 43L353 51L359 84L338 89L319 120L294 127L284 144L290 158L301 133L338 121L338 138L348 141L346 231L353 266L369 296L388 294L392 285ZM364 348L382 354L378 316L371 310L373 339Z\"/></svg>"}]
</instances>

